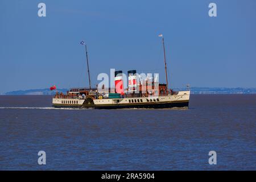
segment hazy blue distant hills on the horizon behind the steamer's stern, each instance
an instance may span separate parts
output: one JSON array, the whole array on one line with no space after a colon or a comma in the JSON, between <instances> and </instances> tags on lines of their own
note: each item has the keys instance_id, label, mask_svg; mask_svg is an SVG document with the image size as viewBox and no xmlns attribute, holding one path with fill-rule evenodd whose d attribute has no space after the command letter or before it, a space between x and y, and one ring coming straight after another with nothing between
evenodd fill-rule
<instances>
[{"instance_id":1,"label":"hazy blue distant hills on the horizon behind the steamer's stern","mask_svg":"<svg viewBox=\"0 0 256 182\"><path fill-rule=\"evenodd\" d=\"M57 89L58 92L66 93L68 89ZM49 89L31 89L31 90L17 90L6 92L5 95L54 95L55 90Z\"/></svg>"}]
</instances>

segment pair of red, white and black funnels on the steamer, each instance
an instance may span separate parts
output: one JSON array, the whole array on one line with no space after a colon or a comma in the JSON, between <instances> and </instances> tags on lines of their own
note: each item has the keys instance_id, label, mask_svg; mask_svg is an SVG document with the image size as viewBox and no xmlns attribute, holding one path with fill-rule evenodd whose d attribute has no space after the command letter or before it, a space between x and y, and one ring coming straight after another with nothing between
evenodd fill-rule
<instances>
[{"instance_id":1,"label":"pair of red, white and black funnels on the steamer","mask_svg":"<svg viewBox=\"0 0 256 182\"><path fill-rule=\"evenodd\" d=\"M128 89L134 90L137 84L136 78L136 70L128 71ZM122 71L115 71L115 93L119 93L121 95L124 94L123 89L123 72Z\"/></svg>"}]
</instances>

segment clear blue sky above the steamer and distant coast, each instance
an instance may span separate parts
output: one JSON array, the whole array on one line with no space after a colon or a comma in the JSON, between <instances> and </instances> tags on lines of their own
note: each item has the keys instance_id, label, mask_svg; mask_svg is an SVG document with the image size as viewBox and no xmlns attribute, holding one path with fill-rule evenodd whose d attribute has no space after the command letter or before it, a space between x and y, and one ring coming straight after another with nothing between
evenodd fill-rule
<instances>
[{"instance_id":1,"label":"clear blue sky above the steamer and distant coast","mask_svg":"<svg viewBox=\"0 0 256 182\"><path fill-rule=\"evenodd\" d=\"M38 16L44 2L47 16ZM217 4L210 18L208 5ZM256 1L0 1L0 92L93 85L110 68L172 87L256 87Z\"/></svg>"}]
</instances>

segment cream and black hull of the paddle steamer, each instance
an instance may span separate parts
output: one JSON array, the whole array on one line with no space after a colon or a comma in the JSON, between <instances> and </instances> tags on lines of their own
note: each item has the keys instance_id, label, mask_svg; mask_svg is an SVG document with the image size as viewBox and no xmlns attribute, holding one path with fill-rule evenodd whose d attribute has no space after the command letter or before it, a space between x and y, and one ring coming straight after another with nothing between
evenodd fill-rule
<instances>
[{"instance_id":1,"label":"cream and black hull of the paddle steamer","mask_svg":"<svg viewBox=\"0 0 256 182\"><path fill-rule=\"evenodd\" d=\"M88 101L75 98L53 98L55 107L92 107L94 109L122 108L172 108L188 107L190 91L180 91L177 94L158 97L104 98Z\"/></svg>"}]
</instances>

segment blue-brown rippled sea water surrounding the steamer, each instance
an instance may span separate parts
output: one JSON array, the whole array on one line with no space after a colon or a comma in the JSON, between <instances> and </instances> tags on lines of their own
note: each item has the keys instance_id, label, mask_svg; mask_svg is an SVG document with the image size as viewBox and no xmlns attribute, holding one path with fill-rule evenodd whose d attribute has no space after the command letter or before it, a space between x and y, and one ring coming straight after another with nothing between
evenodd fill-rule
<instances>
[{"instance_id":1,"label":"blue-brown rippled sea water surrounding the steamer","mask_svg":"<svg viewBox=\"0 0 256 182\"><path fill-rule=\"evenodd\" d=\"M119 110L0 96L0 170L256 170L255 124L256 94L195 94L189 109Z\"/></svg>"}]
</instances>

